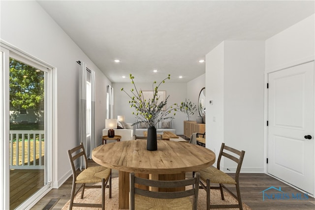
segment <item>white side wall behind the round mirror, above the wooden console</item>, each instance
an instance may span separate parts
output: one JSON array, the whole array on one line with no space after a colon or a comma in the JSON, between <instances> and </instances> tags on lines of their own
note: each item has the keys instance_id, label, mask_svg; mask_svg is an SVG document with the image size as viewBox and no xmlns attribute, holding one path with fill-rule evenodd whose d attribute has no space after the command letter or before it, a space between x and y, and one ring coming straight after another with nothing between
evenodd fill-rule
<instances>
[{"instance_id":1,"label":"white side wall behind the round mirror, above the wooden console","mask_svg":"<svg viewBox=\"0 0 315 210\"><path fill-rule=\"evenodd\" d=\"M202 74L199 77L197 77L193 80L190 80L187 83L187 99L189 99L191 102L193 102L197 105L197 111L191 117L190 120L196 120L196 118L199 116L198 98L199 98L199 93L200 93L201 89L206 87L205 77L206 77L206 74Z\"/></svg>"}]
</instances>

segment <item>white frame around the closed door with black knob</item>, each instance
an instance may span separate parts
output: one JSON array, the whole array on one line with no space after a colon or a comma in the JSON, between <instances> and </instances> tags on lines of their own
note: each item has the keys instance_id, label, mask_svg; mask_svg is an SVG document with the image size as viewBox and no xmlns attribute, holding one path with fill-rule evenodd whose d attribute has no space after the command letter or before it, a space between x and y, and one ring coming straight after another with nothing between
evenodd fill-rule
<instances>
[{"instance_id":1,"label":"white frame around the closed door with black knob","mask_svg":"<svg viewBox=\"0 0 315 210\"><path fill-rule=\"evenodd\" d=\"M268 78L269 78L269 74L270 73L274 73L276 71L281 71L281 70L284 70L284 69L288 69L288 68L291 68L291 67L294 67L294 66L302 65L304 63L313 62L313 61L315 61L314 58L312 58L311 60L309 60L309 59L308 60L304 60L304 62L290 63L291 65L289 65L287 67L282 66L282 68L279 68L278 70L273 69L272 71L268 71L268 72L266 71L267 69L265 69L265 73L264 73L264 86L265 86L265 88L264 88L264 122L263 122L264 123L264 155L263 155L263 158L264 158L263 159L263 161L264 161L264 173L269 175L269 176L271 176L271 177L273 177L273 178L275 178L275 179L277 179L277 180L280 180L280 181L284 182L285 184L288 184L289 186L291 186L291 187L293 187L293 188L295 188L297 190L300 190L300 191L303 191L303 190L301 190L300 188L295 187L294 185L292 185L292 184L290 184L290 183L288 183L288 182L286 182L284 180L281 180L281 179L279 179L277 177L274 177L271 174L268 174L268 170L267 170L268 169L268 165L267 165L267 158L268 158L268 126L267 126L267 120L268 120L268 103L269 103L269 101L268 101L267 84L269 83L269 79ZM315 66L314 66L314 69L315 69ZM315 76L314 76L313 79L315 81ZM314 85L314 92L315 92L315 85ZM315 107L314 107L314 111L315 111ZM315 119L315 114L314 114L313 117ZM313 130L315 131L315 125L314 125ZM315 141L315 139L313 139L313 141ZM315 153L315 143L314 143L314 153ZM315 164L314 164L313 167L314 167L314 170L315 170ZM314 173L314 180L315 180L315 173ZM313 188L315 190L315 183L314 183ZM309 195L312 196L312 197L315 197L315 194L314 195L309 194Z\"/></svg>"}]
</instances>

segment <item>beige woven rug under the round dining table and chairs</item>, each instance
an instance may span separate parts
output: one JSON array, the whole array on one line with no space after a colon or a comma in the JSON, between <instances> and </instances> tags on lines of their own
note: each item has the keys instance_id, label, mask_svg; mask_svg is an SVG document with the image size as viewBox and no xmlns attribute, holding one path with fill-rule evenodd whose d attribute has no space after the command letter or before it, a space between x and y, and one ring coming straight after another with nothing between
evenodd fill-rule
<instances>
[{"instance_id":1,"label":"beige woven rug under the round dining table and chairs","mask_svg":"<svg viewBox=\"0 0 315 210\"><path fill-rule=\"evenodd\" d=\"M84 192L84 198L80 198L81 193L79 192L75 198L75 203L98 203L101 204L101 193L100 189L86 189ZM221 200L220 190L211 190L210 195L211 204L237 204L234 197L224 192L225 200ZM206 210L206 191L199 189L198 194L198 210ZM69 209L69 201L63 206L62 210ZM73 207L73 210L100 210L101 208L87 208L87 207ZM244 210L251 210L249 206L243 203ZM112 180L112 198L108 198L108 188L105 190L105 210L119 210L118 209L118 178Z\"/></svg>"}]
</instances>

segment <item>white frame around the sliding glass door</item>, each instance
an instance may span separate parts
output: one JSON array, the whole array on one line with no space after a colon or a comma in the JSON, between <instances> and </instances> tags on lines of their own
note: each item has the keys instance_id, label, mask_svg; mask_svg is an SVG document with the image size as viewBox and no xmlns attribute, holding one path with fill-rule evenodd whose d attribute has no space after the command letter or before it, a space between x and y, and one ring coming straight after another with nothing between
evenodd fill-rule
<instances>
[{"instance_id":1,"label":"white frame around the sliding glass door","mask_svg":"<svg viewBox=\"0 0 315 210\"><path fill-rule=\"evenodd\" d=\"M56 155L57 150L55 150L54 146L57 147L56 140L57 140L57 69L42 61L38 58L33 57L32 55L25 53L24 51L14 47L13 45L0 40L0 51L4 52L3 54L3 71L0 75L0 94L1 94L1 105L3 106L1 110L1 119L2 121L0 124L1 126L1 139L8 139L9 138L9 57L10 54L17 55L22 57L25 60L30 60L32 63L44 67L47 69L47 93L45 93L45 97L47 97L47 103L45 103L45 109L47 110L46 114L46 135L49 141L46 142L46 171L45 177L47 178L47 184L38 190L33 196L27 199L23 203L23 208L21 206L17 207L16 209L23 209L29 210L34 206L42 197L44 197L53 187L52 187L52 180L53 180L53 171L57 172L57 161L53 161L52 157L57 157ZM2 59L1 58L1 59ZM0 188L2 196L0 197L0 208L1 209L9 209L9 142L2 141L0 143L0 150L3 151L2 156L0 157ZM55 153L53 153L55 152ZM53 162L55 163L53 165ZM46 167L45 166L45 167ZM56 179L56 178L55 178Z\"/></svg>"}]
</instances>

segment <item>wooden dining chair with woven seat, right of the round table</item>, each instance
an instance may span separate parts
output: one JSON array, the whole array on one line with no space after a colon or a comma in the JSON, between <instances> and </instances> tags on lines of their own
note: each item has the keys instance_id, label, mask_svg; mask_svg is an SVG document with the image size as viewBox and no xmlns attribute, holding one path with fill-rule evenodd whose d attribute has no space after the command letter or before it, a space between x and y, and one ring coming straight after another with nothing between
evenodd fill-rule
<instances>
[{"instance_id":1,"label":"wooden dining chair with woven seat, right of the round table","mask_svg":"<svg viewBox=\"0 0 315 210\"><path fill-rule=\"evenodd\" d=\"M245 151L235 150L231 147L227 147L222 143L221 150L218 157L217 168L210 166L208 168L197 171L200 173L200 188L203 188L207 192L207 210L210 209L228 209L228 208L239 208L243 210L240 185L239 185L239 176L244 159ZM233 160L237 163L236 173L234 179L229 175L225 174L220 170L220 162L222 156ZM210 186L210 183L218 183L219 186ZM225 184L233 184L236 187L236 195L232 193ZM238 204L230 205L210 205L210 189L220 189L221 190L221 199L224 200L223 188L230 193L237 201Z\"/></svg>"}]
</instances>

